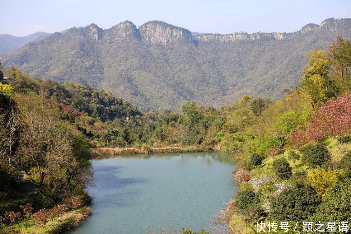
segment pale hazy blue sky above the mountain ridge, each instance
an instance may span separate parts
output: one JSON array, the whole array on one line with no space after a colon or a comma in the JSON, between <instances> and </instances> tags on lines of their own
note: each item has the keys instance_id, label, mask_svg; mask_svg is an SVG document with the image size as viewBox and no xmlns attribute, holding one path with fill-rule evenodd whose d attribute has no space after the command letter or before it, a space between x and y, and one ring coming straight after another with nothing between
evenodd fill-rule
<instances>
[{"instance_id":1,"label":"pale hazy blue sky above the mountain ridge","mask_svg":"<svg viewBox=\"0 0 351 234\"><path fill-rule=\"evenodd\" d=\"M53 33L91 23L106 29L125 20L137 27L161 20L193 32L293 32L331 17L350 18L350 9L350 0L2 0L0 34Z\"/></svg>"}]
</instances>

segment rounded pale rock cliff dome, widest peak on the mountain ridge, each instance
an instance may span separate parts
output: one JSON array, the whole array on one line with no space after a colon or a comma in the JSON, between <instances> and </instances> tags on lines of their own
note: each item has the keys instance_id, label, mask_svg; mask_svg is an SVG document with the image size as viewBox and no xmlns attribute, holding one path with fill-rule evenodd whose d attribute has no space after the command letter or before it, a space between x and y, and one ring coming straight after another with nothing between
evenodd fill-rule
<instances>
[{"instance_id":1,"label":"rounded pale rock cliff dome, widest peak on the mountain ridge","mask_svg":"<svg viewBox=\"0 0 351 234\"><path fill-rule=\"evenodd\" d=\"M192 42L192 35L188 29L167 24L163 21L149 21L139 27L143 40L151 44L166 45L178 38L185 38Z\"/></svg>"}]
</instances>

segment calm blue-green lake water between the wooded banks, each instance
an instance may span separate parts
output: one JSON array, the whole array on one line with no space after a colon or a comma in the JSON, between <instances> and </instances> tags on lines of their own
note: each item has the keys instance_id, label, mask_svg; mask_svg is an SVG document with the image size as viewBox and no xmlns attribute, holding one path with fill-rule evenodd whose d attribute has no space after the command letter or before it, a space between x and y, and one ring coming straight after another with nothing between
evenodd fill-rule
<instances>
[{"instance_id":1,"label":"calm blue-green lake water between the wooded banks","mask_svg":"<svg viewBox=\"0 0 351 234\"><path fill-rule=\"evenodd\" d=\"M225 153L125 155L92 163L93 212L69 234L139 234L162 222L206 229L237 191L227 177L235 166Z\"/></svg>"}]
</instances>

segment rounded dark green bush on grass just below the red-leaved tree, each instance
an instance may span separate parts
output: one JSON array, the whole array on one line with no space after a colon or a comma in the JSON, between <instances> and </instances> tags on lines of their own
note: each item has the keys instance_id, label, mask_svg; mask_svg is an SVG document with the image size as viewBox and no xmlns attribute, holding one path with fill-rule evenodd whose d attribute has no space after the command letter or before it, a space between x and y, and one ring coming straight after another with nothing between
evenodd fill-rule
<instances>
[{"instance_id":1,"label":"rounded dark green bush on grass just below the red-leaved tree","mask_svg":"<svg viewBox=\"0 0 351 234\"><path fill-rule=\"evenodd\" d=\"M331 160L331 154L323 143L307 145L303 147L300 152L302 153L301 162L310 168L322 166L324 163Z\"/></svg>"}]
</instances>

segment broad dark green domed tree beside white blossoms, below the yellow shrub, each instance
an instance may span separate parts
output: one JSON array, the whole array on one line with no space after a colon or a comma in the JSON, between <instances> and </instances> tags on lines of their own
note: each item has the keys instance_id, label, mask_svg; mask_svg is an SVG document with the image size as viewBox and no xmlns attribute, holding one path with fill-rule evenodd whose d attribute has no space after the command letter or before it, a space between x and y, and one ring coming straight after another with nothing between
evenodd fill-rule
<instances>
[{"instance_id":1,"label":"broad dark green domed tree beside white blossoms, below the yellow shrub","mask_svg":"<svg viewBox=\"0 0 351 234\"><path fill-rule=\"evenodd\" d=\"M322 199L311 185L297 182L271 202L269 220L301 221L309 218Z\"/></svg>"}]
</instances>

